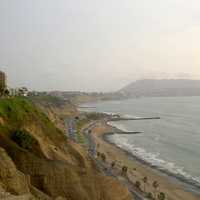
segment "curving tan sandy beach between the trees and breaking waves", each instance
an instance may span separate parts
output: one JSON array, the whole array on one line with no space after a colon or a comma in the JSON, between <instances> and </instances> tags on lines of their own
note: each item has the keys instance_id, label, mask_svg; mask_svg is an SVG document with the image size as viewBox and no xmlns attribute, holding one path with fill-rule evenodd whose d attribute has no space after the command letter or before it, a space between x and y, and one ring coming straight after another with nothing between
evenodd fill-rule
<instances>
[{"instance_id":1,"label":"curving tan sandy beach between the trees and breaking waves","mask_svg":"<svg viewBox=\"0 0 200 200\"><path fill-rule=\"evenodd\" d=\"M200 200L198 194L186 190L184 183L130 157L127 152L107 142L105 140L105 134L113 132L113 130L114 128L105 121L98 121L91 128L92 138L96 143L97 152L106 155L106 162L111 163L116 161L116 167L119 169L121 169L122 166L127 166L127 177L133 183L140 181L142 190L144 190L144 183L142 180L144 177L147 177L148 182L145 184L145 191L147 193L151 192L155 194L152 183L157 181L159 187L156 192L164 192L167 200Z\"/></svg>"}]
</instances>

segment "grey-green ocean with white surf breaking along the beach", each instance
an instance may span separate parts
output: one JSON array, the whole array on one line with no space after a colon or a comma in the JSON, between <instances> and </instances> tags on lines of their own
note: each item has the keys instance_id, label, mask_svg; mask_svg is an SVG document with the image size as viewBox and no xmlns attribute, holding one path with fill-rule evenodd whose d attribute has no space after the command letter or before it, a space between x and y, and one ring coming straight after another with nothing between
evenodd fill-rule
<instances>
[{"instance_id":1,"label":"grey-green ocean with white surf breaking along the beach","mask_svg":"<svg viewBox=\"0 0 200 200\"><path fill-rule=\"evenodd\" d=\"M149 165L200 186L200 97L137 98L84 106L84 111L160 117L109 122L119 129L142 133L114 134L108 139Z\"/></svg>"}]
</instances>

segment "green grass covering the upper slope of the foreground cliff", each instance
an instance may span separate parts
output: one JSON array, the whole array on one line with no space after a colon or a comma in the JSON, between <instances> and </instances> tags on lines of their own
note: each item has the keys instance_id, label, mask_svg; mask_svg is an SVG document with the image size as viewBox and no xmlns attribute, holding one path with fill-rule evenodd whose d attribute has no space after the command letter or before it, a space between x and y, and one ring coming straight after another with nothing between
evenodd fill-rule
<instances>
[{"instance_id":1,"label":"green grass covering the upper slope of the foreground cliff","mask_svg":"<svg viewBox=\"0 0 200 200\"><path fill-rule=\"evenodd\" d=\"M5 121L3 126L10 129L10 132L21 130L23 127L29 126L29 124L34 124L42 129L44 134L48 135L53 141L66 139L63 132L28 98L0 99L0 117Z\"/></svg>"}]
</instances>

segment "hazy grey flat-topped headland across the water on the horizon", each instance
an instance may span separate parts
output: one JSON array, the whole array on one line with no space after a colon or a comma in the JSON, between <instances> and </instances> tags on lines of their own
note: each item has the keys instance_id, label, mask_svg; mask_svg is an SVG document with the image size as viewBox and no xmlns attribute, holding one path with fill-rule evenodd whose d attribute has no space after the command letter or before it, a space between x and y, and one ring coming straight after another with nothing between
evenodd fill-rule
<instances>
[{"instance_id":1,"label":"hazy grey flat-topped headland across the water on the horizon","mask_svg":"<svg viewBox=\"0 0 200 200\"><path fill-rule=\"evenodd\" d=\"M144 79L125 86L119 93L126 97L200 96L200 80Z\"/></svg>"}]
</instances>

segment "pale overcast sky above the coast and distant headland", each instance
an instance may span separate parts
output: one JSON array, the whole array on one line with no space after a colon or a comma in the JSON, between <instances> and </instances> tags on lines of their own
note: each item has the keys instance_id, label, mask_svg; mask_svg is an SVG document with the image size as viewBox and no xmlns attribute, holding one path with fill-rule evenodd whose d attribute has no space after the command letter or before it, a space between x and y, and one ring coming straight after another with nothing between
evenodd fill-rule
<instances>
[{"instance_id":1,"label":"pale overcast sky above the coast and distant headland","mask_svg":"<svg viewBox=\"0 0 200 200\"><path fill-rule=\"evenodd\" d=\"M0 0L0 70L41 91L200 79L200 1Z\"/></svg>"}]
</instances>

